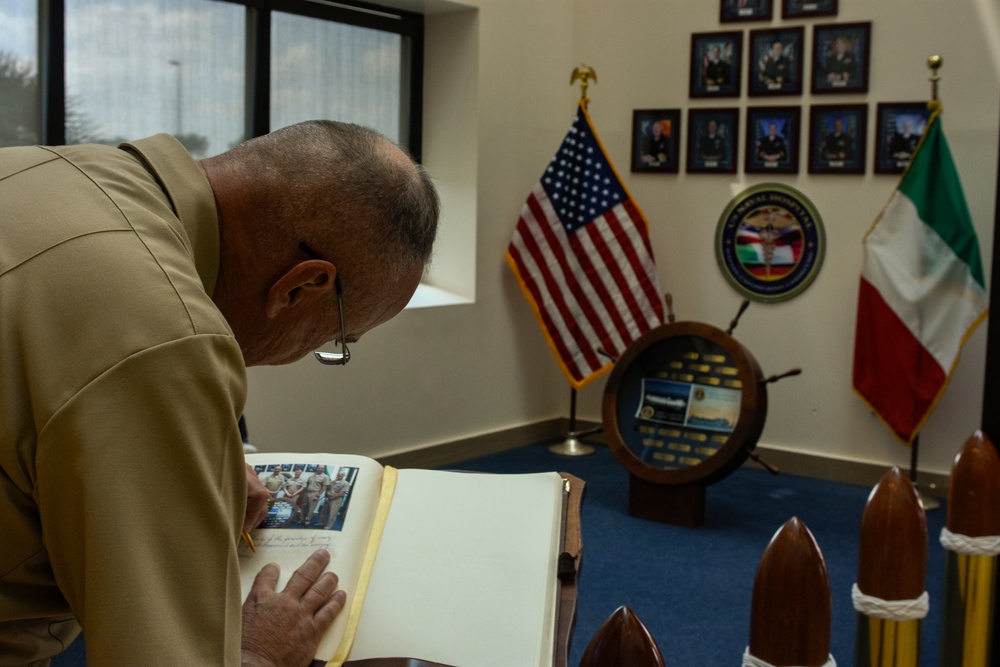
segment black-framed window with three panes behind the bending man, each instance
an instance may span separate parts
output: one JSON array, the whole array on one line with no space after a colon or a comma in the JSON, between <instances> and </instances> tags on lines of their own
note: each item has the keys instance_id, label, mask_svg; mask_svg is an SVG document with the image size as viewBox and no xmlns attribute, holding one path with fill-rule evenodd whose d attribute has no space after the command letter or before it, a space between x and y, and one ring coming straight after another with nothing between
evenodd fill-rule
<instances>
[{"instance_id":1,"label":"black-framed window with three panes behind the bending man","mask_svg":"<svg viewBox=\"0 0 1000 667\"><path fill-rule=\"evenodd\" d=\"M0 44L0 145L169 132L205 157L332 118L420 154L417 14L318 0L5 0Z\"/></svg>"}]
</instances>

